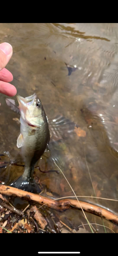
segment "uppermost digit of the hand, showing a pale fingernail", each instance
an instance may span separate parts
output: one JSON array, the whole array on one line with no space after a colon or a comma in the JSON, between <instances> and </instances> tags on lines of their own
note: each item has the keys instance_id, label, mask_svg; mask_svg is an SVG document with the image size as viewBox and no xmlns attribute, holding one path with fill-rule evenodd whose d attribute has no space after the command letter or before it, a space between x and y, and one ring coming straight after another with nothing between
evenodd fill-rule
<instances>
[{"instance_id":1,"label":"uppermost digit of the hand, showing a pale fingernail","mask_svg":"<svg viewBox=\"0 0 118 256\"><path fill-rule=\"evenodd\" d=\"M0 71L5 68L13 53L12 46L8 42L0 44Z\"/></svg>"}]
</instances>

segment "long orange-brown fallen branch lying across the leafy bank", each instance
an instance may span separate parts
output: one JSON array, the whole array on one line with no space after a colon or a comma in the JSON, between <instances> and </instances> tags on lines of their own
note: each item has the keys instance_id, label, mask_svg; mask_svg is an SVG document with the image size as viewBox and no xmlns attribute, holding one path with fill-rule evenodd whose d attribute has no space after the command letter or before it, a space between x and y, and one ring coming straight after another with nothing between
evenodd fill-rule
<instances>
[{"instance_id":1,"label":"long orange-brown fallen branch lying across the leafy bank","mask_svg":"<svg viewBox=\"0 0 118 256\"><path fill-rule=\"evenodd\" d=\"M108 211L97 205L93 205L83 201L79 201L81 204L81 207L80 207L78 201L74 199L61 199L58 201L57 200L54 201L50 198L46 198L41 195L33 194L30 192L27 192L15 187L6 186L6 185L0 185L0 193L7 196L24 198L28 201L35 201L40 205L45 204L46 207L49 207L58 211L64 211L69 208L81 209L82 207L83 210L90 212L91 214L95 214L97 216L105 218L106 220L111 221L112 223L118 225L118 216L115 213Z\"/></svg>"}]
</instances>

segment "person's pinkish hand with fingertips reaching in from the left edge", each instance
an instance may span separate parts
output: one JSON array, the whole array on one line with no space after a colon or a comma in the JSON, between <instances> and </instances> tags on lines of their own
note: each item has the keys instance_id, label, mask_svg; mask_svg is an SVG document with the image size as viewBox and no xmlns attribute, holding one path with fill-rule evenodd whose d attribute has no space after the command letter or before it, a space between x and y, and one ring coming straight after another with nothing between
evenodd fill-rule
<instances>
[{"instance_id":1,"label":"person's pinkish hand with fingertips reaching in from the left edge","mask_svg":"<svg viewBox=\"0 0 118 256\"><path fill-rule=\"evenodd\" d=\"M15 96L17 93L16 88L9 83L13 80L13 75L5 68L12 53L12 46L8 42L0 44L0 93L7 96Z\"/></svg>"}]
</instances>

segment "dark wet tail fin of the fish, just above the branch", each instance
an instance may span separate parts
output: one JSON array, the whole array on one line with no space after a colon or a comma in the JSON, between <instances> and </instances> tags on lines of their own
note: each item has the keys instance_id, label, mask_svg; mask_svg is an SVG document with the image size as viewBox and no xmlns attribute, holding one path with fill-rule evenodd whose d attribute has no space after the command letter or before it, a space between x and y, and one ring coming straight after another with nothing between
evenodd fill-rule
<instances>
[{"instance_id":1,"label":"dark wet tail fin of the fish, just above the branch","mask_svg":"<svg viewBox=\"0 0 118 256\"><path fill-rule=\"evenodd\" d=\"M16 181L9 184L11 187L16 187L31 193L39 194L42 190L32 178L24 179L22 176L20 176Z\"/></svg>"}]
</instances>

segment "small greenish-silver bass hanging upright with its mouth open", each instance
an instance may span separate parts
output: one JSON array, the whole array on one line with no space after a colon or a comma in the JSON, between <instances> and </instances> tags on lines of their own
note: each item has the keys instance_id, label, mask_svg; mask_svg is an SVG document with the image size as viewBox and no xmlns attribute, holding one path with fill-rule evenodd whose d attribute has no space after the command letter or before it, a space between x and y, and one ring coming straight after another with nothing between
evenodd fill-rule
<instances>
[{"instance_id":1,"label":"small greenish-silver bass hanging upright with its mouth open","mask_svg":"<svg viewBox=\"0 0 118 256\"><path fill-rule=\"evenodd\" d=\"M48 117L45 114L41 100L34 93L23 98L16 96L20 111L20 134L17 147L21 148L21 155L25 162L25 170L10 186L40 193L40 185L33 179L34 166L42 154L48 150L50 130Z\"/></svg>"}]
</instances>

